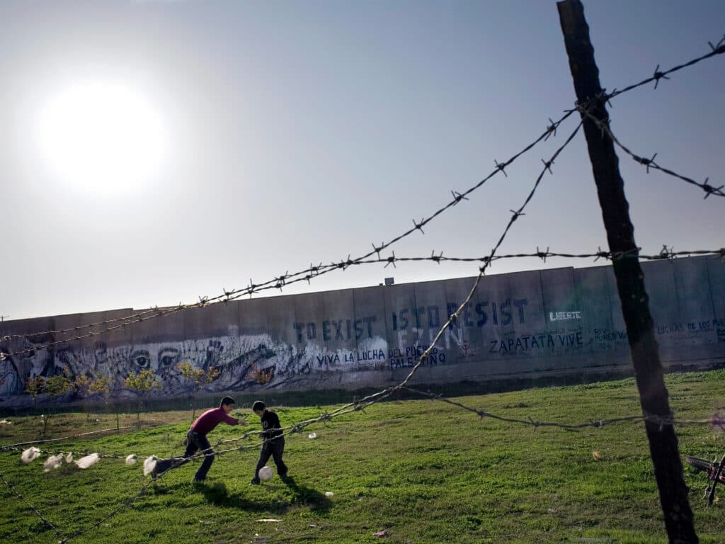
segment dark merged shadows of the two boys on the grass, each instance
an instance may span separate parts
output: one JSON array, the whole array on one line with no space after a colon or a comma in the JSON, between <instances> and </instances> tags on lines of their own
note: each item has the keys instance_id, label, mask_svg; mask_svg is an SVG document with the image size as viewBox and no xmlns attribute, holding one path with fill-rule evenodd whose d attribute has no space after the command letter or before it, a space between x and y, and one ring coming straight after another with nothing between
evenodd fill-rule
<instances>
[{"instance_id":1,"label":"dark merged shadows of the two boys on the grass","mask_svg":"<svg viewBox=\"0 0 725 544\"><path fill-rule=\"evenodd\" d=\"M252 496L252 493L244 491L230 494L226 485L222 482L214 485L197 485L196 489L204 495L207 501L215 506L237 508L244 511L283 514L292 505L307 505L316 511L328 511L332 506L331 500L323 493L310 487L298 485L294 478L286 477L281 480L283 485L261 486L262 490L269 490L270 493L267 498L255 497Z\"/></svg>"}]
</instances>

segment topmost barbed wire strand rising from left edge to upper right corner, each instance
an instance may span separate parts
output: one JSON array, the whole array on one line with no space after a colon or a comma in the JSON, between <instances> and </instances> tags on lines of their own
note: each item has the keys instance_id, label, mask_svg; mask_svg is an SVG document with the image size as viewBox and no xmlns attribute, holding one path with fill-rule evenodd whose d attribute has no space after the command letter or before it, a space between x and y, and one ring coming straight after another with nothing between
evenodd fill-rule
<instances>
[{"instance_id":1,"label":"topmost barbed wire strand rising from left edge to upper right corner","mask_svg":"<svg viewBox=\"0 0 725 544\"><path fill-rule=\"evenodd\" d=\"M716 55L722 54L725 52L725 36L723 38L721 38L721 40L718 41L718 43L716 45L713 45L709 41L708 41L708 44L711 47L711 51L708 52L707 54L703 54L700 57L689 60L688 62L684 62L681 65L676 65L676 66L670 68L669 70L665 70L665 71L660 71L660 69L659 69L660 66L657 65L657 67L655 68L655 73L650 78L646 78L645 80L639 81L639 83L634 83L634 84L631 84L631 85L626 86L621 89L615 89L610 94L603 93L602 96L593 97L592 99L590 99L590 101L587 104L582 104L582 107L587 108L591 104L593 104L595 102L600 102L602 100L604 102L608 102L610 99L613 99L616 96L619 96L626 92L632 91L635 88L644 86L647 83L651 83L652 81L655 81L655 88L657 88L657 85L658 85L660 79L663 79L663 78L669 79L667 76L672 73L675 73L679 70L684 69L685 67L695 65L698 62L701 62L701 61L711 58L711 57L715 57ZM460 202L461 200L466 200L467 199L466 197L468 196L468 194L471 194L476 189L479 189L479 187L481 185L483 185L486 181L488 181L490 178L495 176L497 173L501 172L504 174L504 176L506 176L505 168L507 168L509 165L511 165L516 159L518 159L518 157L525 154L526 152L529 152L529 150L531 150L534 146L539 144L541 141L545 141L545 140L549 139L549 137L552 134L555 135L558 126L561 123L563 123L563 121L566 120L566 118L568 118L568 116L571 115L571 113L578 110L578 108L579 108L579 106L575 107L573 110L566 110L565 114L562 117L560 117L557 121L552 121L551 118L549 118L550 124L547 125L547 128L544 131L544 133L539 135L539 137L537 139L535 139L534 141L532 141L531 144L527 145L526 147L523 147L523 149L521 149L521 151L519 151L518 153L516 153L512 157L510 157L509 160L507 160L505 162L498 162L497 160L494 160L494 164L496 165L496 168L492 171L492 173L489 173L488 176L483 178L476 185L472 186L471 188L464 191L463 193L458 193L457 191L452 190L451 193L453 195L453 199L450 202L448 202L446 205L444 205L443 207L439 208L439 210L436 210L436 212L434 212L432 215L428 216L428 218L423 218L420 223L416 222L415 219L413 219L413 228L410 228L407 231L405 231L404 233L399 234L398 236L396 236L394 239L390 240L389 242L383 242L380 246L376 246L376 244L373 243L372 252L368 252L367 254L357 257L355 259L352 259L350 257L350 255L348 255L347 259L343 259L339 263L331 263L330 265L323 265L322 263L320 263L319 265L313 265L312 263L310 263L310 267L305 268L305 270L298 271L298 272L291 273L291 274L288 271L284 274L281 274L281 276L270 279L268 281L264 281L261 284L254 284L254 282L250 279L249 286L247 286L244 289L231 289L231 291L222 289L223 294L220 294L216 297L199 296L199 302L194 302L191 304L182 304L181 302L179 302L178 306L173 306L173 307L167 306L167 307L159 308L159 306L154 306L154 308L149 308L148 310L143 310L141 312L133 313L130 316L123 316L120 318L108 319L108 320L99 321L96 323L89 323L86 325L74 326L74 327L70 327L68 329L38 331L38 332L28 333L28 334L5 335L4 337L0 337L0 338L1 339L12 339L12 338L27 338L27 337L33 337L33 336L50 335L50 334L67 334L67 333L71 333L74 331L77 332L77 331L93 329L93 328L101 327L101 326L106 327L105 329L103 329L101 331L91 331L88 334L76 335L75 337L58 340L56 342L49 342L45 346L45 347L51 347L51 346L55 346L55 345L59 345L59 344L67 343L67 342L72 342L75 340L99 336L101 334L106 334L108 332L115 331L118 329L123 329L128 324L138 323L141 321L145 321L146 319L162 317L162 316L166 316L170 313L177 313L177 312L181 312L183 310L188 310L191 308L203 308L204 306L211 305L211 304L217 304L220 302L230 302L231 300L236 300L247 294L249 294L249 296L251 297L252 294L259 293L259 292L265 291L267 289L282 289L282 287L285 287L286 285L294 284L299 281L307 281L309 283L313 278L321 276L325 273L329 273L333 270L341 269L344 271L349 265L355 264L355 263L359 262L360 260L368 259L368 257L370 257L374 254L377 254L379 257L380 252L382 250L387 249L388 247L392 246L392 244L399 242L399 240L405 238L406 236L410 236L410 234L415 233L415 231L421 231L421 233L425 234L423 232L423 226L426 226L427 223L429 223L430 221L433 221L434 218L436 218L441 213L444 213L446 210L449 210L450 208L457 205L457 203ZM697 184L697 182L695 182L695 183ZM117 324L116 326L109 326L112 323L119 323L119 324ZM27 353L28 351L30 351L30 350L23 350L22 352L17 352L17 353L9 354L9 355L22 355L22 353Z\"/></svg>"}]
</instances>

